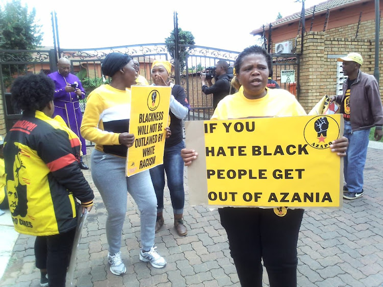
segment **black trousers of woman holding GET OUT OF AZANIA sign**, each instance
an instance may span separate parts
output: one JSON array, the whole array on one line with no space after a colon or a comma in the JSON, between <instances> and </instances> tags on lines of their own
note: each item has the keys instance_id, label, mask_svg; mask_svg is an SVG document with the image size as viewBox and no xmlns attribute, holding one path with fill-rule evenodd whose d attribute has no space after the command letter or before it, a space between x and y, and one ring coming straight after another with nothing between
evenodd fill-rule
<instances>
[{"instance_id":1,"label":"black trousers of woman holding GET OUT OF AZANIA sign","mask_svg":"<svg viewBox=\"0 0 383 287\"><path fill-rule=\"evenodd\" d=\"M219 208L242 287L262 286L264 260L270 287L297 286L297 242L303 209L283 217L272 208Z\"/></svg>"}]
</instances>

